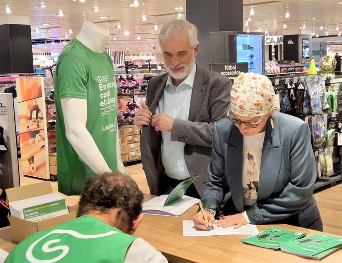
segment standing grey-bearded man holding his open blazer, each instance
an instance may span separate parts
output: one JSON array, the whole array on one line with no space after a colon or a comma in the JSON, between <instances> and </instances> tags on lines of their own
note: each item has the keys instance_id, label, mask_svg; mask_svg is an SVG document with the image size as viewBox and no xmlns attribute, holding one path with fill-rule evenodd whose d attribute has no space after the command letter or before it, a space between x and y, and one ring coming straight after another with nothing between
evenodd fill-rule
<instances>
[{"instance_id":1,"label":"standing grey-bearded man holding his open blazer","mask_svg":"<svg viewBox=\"0 0 342 263\"><path fill-rule=\"evenodd\" d=\"M200 175L185 195L200 198L208 179L214 122L227 115L230 80L195 64L196 27L182 19L166 23L158 42L168 73L149 81L146 104L134 124L142 129L143 169L152 195L166 195Z\"/></svg>"}]
</instances>

